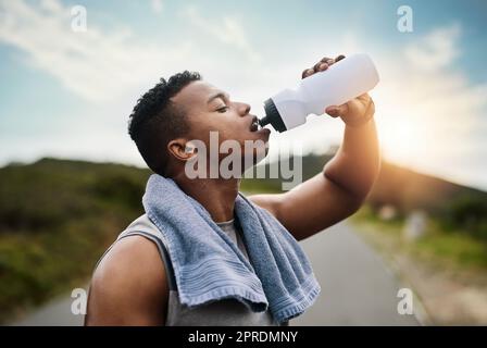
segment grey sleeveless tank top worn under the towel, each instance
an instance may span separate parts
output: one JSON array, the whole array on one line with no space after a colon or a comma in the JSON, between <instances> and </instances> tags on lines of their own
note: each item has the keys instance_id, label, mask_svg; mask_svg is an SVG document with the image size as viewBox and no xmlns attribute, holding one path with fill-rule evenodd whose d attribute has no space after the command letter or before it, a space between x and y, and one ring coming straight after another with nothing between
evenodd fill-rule
<instances>
[{"instance_id":1,"label":"grey sleeveless tank top worn under the towel","mask_svg":"<svg viewBox=\"0 0 487 348\"><path fill-rule=\"evenodd\" d=\"M234 243L240 248L244 254L249 259L241 237L238 224L234 220L217 224ZM168 301L166 313L166 326L278 326L271 312L253 312L246 304L236 299L224 299L210 303L200 304L189 308L179 302L176 279L171 264L170 254L167 252L164 237L158 227L143 214L135 220L124 232L122 232L112 246L104 252L103 257L110 251L113 245L125 237L139 235L152 240L158 247L161 259L168 279ZM98 264L100 263L98 261ZM282 323L287 326L289 323Z\"/></svg>"}]
</instances>

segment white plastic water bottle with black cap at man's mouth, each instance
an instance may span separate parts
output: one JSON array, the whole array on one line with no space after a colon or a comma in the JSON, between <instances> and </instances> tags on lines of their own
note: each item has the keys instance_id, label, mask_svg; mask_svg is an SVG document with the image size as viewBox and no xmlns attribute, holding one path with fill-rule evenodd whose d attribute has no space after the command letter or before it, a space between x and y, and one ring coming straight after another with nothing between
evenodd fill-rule
<instances>
[{"instance_id":1,"label":"white plastic water bottle with black cap at man's mouth","mask_svg":"<svg viewBox=\"0 0 487 348\"><path fill-rule=\"evenodd\" d=\"M309 114L323 114L329 105L340 105L371 90L379 80L374 62L367 54L347 57L324 72L300 80L264 102L261 126L271 124L286 132L307 122Z\"/></svg>"}]
</instances>

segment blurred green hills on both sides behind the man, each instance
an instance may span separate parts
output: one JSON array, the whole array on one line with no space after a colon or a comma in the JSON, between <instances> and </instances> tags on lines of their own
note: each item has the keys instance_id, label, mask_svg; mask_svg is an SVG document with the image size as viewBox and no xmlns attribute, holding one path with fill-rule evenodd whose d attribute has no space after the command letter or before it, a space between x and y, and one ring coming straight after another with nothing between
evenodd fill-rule
<instances>
[{"instance_id":1,"label":"blurred green hills on both sides behind the man","mask_svg":"<svg viewBox=\"0 0 487 348\"><path fill-rule=\"evenodd\" d=\"M304 157L303 179L329 158ZM149 175L55 159L0 169L0 321L85 282L115 236L142 213ZM241 188L279 191L280 179L245 179ZM394 204L403 214L424 209L487 239L487 194L479 190L384 163L370 203Z\"/></svg>"}]
</instances>

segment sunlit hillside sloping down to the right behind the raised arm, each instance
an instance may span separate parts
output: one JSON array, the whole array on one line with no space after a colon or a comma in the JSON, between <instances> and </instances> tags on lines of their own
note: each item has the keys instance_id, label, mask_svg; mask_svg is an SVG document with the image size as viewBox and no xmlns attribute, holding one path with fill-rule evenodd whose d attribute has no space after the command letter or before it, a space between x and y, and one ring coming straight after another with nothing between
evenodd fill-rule
<instances>
[{"instance_id":1,"label":"sunlit hillside sloping down to the right behind the raised arm","mask_svg":"<svg viewBox=\"0 0 487 348\"><path fill-rule=\"evenodd\" d=\"M332 154L303 157L303 181L320 173L330 158ZM292 164L295 159L286 162L288 161ZM266 173L271 171L270 166L277 165L266 164ZM285 167L288 167L288 164ZM280 190L280 179L248 179L242 187L246 185ZM383 162L379 177L367 202L374 210L385 204L392 206L399 216L414 210L423 210L438 219L446 231L461 228L464 233L487 240L487 192L478 189Z\"/></svg>"}]
</instances>

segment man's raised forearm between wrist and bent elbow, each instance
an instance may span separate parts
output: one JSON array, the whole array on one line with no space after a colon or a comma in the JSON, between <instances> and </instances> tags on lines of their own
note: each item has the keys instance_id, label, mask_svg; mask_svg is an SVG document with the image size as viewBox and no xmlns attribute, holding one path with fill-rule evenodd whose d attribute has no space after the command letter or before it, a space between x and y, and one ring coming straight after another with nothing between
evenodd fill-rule
<instances>
[{"instance_id":1,"label":"man's raised forearm between wrist and bent elbow","mask_svg":"<svg viewBox=\"0 0 487 348\"><path fill-rule=\"evenodd\" d=\"M363 200L380 169L380 154L374 119L361 126L346 126L344 141L325 165L324 175L341 189Z\"/></svg>"}]
</instances>

